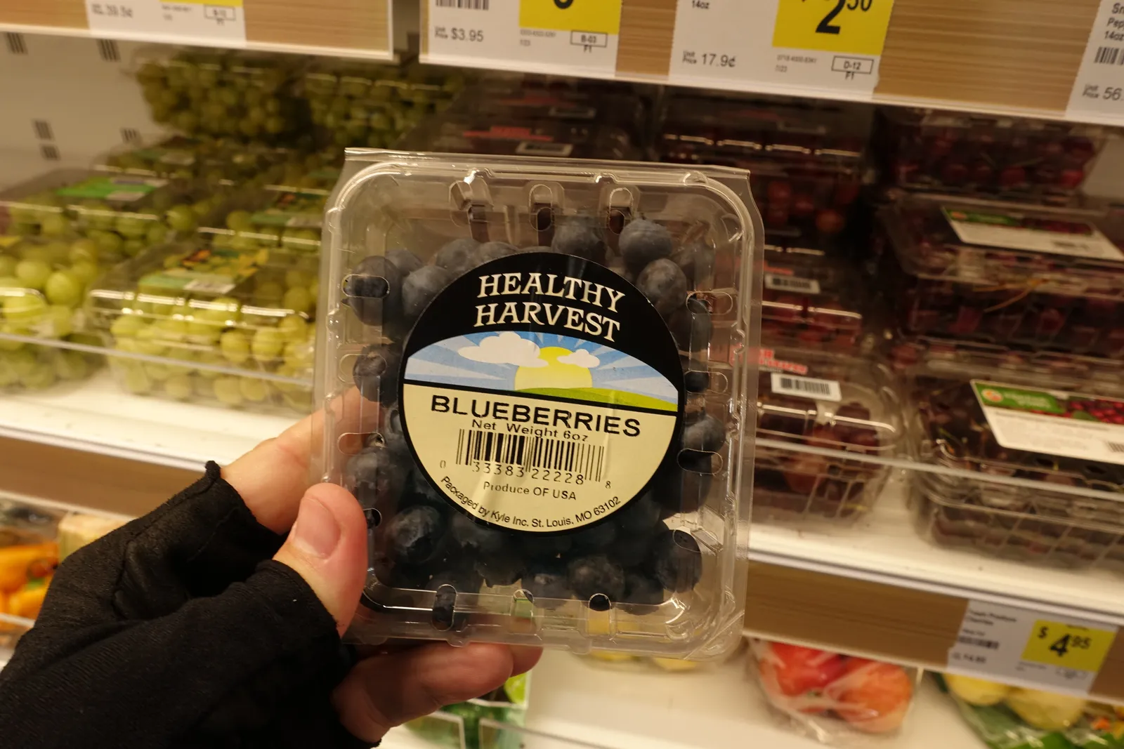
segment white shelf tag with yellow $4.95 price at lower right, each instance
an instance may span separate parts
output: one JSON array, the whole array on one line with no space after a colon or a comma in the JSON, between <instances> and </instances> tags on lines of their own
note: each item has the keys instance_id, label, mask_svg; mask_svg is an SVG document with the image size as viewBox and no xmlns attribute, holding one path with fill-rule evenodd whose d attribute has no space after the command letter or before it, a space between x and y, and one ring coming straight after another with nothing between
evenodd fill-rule
<instances>
[{"instance_id":1,"label":"white shelf tag with yellow $4.95 price at lower right","mask_svg":"<svg viewBox=\"0 0 1124 749\"><path fill-rule=\"evenodd\" d=\"M1093 687L1116 627L969 601L946 670L1085 696Z\"/></svg>"}]
</instances>

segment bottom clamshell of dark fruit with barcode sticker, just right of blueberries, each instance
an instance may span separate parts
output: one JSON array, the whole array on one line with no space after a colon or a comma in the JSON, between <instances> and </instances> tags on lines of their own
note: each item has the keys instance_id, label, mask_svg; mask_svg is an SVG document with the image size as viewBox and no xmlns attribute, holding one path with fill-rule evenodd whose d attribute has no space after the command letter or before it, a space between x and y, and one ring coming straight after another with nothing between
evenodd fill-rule
<instances>
[{"instance_id":1,"label":"bottom clamshell of dark fruit with barcode sticker, just right of blueberries","mask_svg":"<svg viewBox=\"0 0 1124 749\"><path fill-rule=\"evenodd\" d=\"M758 439L834 455L758 445L753 519L851 522L862 517L890 469L859 456L894 457L904 447L901 400L891 372L873 359L795 348L765 347L760 365Z\"/></svg>"}]
</instances>

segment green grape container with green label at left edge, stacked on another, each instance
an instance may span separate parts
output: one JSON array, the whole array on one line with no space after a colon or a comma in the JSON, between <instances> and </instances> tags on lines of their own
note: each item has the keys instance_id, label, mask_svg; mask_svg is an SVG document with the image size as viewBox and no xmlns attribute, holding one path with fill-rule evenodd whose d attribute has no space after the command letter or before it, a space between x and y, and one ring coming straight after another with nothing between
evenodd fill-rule
<instances>
[{"instance_id":1,"label":"green grape container with green label at left edge, stacked on another","mask_svg":"<svg viewBox=\"0 0 1124 749\"><path fill-rule=\"evenodd\" d=\"M91 170L57 170L0 192L0 235L84 238L103 261L194 234L227 189Z\"/></svg>"}]
</instances>

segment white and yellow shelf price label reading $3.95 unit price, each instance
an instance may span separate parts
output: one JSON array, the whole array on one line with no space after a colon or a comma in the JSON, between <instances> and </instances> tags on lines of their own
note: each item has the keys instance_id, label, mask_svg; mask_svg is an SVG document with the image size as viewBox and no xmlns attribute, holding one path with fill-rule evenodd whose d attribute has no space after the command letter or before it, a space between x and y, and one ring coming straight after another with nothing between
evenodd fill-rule
<instances>
[{"instance_id":1,"label":"white and yellow shelf price label reading $3.95 unit price","mask_svg":"<svg viewBox=\"0 0 1124 749\"><path fill-rule=\"evenodd\" d=\"M616 73L623 0L422 1L428 21L425 62L601 77Z\"/></svg>"}]
</instances>

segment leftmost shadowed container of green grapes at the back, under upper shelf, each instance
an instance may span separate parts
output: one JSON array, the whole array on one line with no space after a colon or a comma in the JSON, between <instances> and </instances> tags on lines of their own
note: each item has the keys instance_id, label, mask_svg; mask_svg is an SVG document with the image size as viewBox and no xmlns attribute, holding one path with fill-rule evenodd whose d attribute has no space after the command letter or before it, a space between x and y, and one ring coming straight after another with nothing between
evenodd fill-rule
<instances>
[{"instance_id":1,"label":"leftmost shadowed container of green grapes at the back, under upper shelf","mask_svg":"<svg viewBox=\"0 0 1124 749\"><path fill-rule=\"evenodd\" d=\"M169 52L171 49L171 53ZM152 118L187 135L275 140L298 131L297 55L145 47L134 68Z\"/></svg>"}]
</instances>

